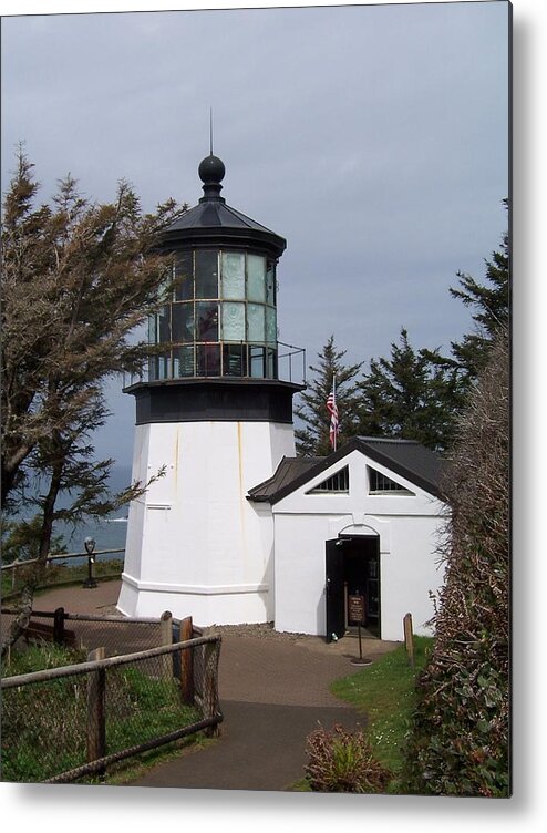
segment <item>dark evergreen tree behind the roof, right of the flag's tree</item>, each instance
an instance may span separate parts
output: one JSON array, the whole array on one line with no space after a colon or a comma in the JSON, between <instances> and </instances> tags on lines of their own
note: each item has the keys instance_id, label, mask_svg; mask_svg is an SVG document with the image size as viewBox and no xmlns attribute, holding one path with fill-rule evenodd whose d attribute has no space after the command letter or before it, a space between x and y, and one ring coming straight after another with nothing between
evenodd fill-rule
<instances>
[{"instance_id":1,"label":"dark evergreen tree behind the roof, right of the flag's tree","mask_svg":"<svg viewBox=\"0 0 547 833\"><path fill-rule=\"evenodd\" d=\"M440 360L437 353L433 354ZM361 394L357 433L417 440L442 450L454 431L457 378L453 368L414 350L401 328L390 358L372 359L358 384Z\"/></svg>"}]
</instances>

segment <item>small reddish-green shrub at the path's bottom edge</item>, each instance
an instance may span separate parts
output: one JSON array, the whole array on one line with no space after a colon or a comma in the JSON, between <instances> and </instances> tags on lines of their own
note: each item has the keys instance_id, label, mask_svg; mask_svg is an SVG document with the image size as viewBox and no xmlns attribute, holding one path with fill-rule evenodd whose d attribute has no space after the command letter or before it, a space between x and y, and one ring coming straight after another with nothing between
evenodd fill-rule
<instances>
[{"instance_id":1,"label":"small reddish-green shrub at the path's bottom edge","mask_svg":"<svg viewBox=\"0 0 547 833\"><path fill-rule=\"evenodd\" d=\"M337 723L320 727L307 739L306 775L313 792L383 792L391 778L375 759L363 732Z\"/></svg>"}]
</instances>

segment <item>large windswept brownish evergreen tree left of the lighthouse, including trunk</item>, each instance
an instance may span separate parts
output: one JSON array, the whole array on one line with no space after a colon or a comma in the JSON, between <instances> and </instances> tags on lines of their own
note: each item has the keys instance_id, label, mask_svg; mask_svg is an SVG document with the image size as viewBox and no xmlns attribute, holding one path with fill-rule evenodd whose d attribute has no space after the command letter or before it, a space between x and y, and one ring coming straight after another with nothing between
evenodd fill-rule
<instances>
[{"instance_id":1,"label":"large windswept brownish evergreen tree left of the lighthouse, including trunk","mask_svg":"<svg viewBox=\"0 0 547 833\"><path fill-rule=\"evenodd\" d=\"M186 206L173 200L143 215L127 183L113 204L82 198L61 181L52 205L37 206L39 185L20 153L2 223L2 503L14 511L40 475L34 565L4 650L32 610L55 520L103 515L141 494L111 495L112 461L93 461L91 436L104 424L104 380L137 370L148 353L133 332L157 308L172 259L157 251L162 232ZM61 494L68 508L59 510Z\"/></svg>"}]
</instances>

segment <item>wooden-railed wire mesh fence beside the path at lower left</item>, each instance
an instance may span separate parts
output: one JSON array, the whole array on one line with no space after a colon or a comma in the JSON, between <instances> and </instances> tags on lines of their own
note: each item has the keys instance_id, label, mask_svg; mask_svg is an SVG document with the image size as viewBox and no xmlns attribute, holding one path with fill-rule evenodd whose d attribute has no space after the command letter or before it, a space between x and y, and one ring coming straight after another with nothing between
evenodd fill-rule
<instances>
[{"instance_id":1,"label":"wooden-railed wire mesh fence beside the path at lower left","mask_svg":"<svg viewBox=\"0 0 547 833\"><path fill-rule=\"evenodd\" d=\"M96 625L87 642L121 624L105 623L105 631ZM158 627L157 621L141 625ZM164 641L167 627L176 631L168 618L159 627ZM151 633L137 641L151 639ZM120 639L112 645L116 650ZM202 730L214 732L223 719L219 650L218 636L122 656L106 656L104 646L90 651L53 641L29 645L12 657L1 683L2 780L96 779L138 752Z\"/></svg>"}]
</instances>

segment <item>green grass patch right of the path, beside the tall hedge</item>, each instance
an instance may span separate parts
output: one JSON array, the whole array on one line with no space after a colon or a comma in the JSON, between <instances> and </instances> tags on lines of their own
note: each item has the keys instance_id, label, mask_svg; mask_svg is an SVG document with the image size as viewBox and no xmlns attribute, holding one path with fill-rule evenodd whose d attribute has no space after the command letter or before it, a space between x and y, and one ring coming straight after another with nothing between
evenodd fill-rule
<instances>
[{"instance_id":1,"label":"green grass patch right of the path, beside the tall hedge","mask_svg":"<svg viewBox=\"0 0 547 833\"><path fill-rule=\"evenodd\" d=\"M414 637L414 669L401 645L331 686L332 693L367 713L367 737L374 754L393 773L388 792L398 792L405 736L415 705L415 676L425 665L432 644L429 637Z\"/></svg>"}]
</instances>

